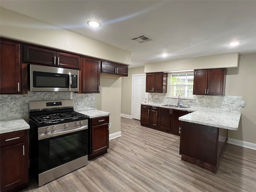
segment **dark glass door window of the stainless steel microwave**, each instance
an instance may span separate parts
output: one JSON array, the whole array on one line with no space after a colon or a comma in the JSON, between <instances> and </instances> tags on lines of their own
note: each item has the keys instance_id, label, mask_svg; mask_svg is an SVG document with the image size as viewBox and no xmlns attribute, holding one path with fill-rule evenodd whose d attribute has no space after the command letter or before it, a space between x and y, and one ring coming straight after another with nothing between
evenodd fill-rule
<instances>
[{"instance_id":1,"label":"dark glass door window of the stainless steel microwave","mask_svg":"<svg viewBox=\"0 0 256 192\"><path fill-rule=\"evenodd\" d=\"M38 88L68 88L68 74L33 72L33 87Z\"/></svg>"}]
</instances>

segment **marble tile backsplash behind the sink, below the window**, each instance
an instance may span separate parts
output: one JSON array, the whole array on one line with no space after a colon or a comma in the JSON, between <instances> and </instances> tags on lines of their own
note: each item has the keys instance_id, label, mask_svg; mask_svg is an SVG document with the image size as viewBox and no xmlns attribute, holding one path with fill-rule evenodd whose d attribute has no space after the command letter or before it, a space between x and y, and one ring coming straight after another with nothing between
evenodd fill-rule
<instances>
[{"instance_id":1,"label":"marble tile backsplash behind the sink, below the window","mask_svg":"<svg viewBox=\"0 0 256 192\"><path fill-rule=\"evenodd\" d=\"M178 103L178 98L168 98L165 93L149 93L148 101L156 104L172 104ZM206 102L204 102L206 99ZM207 102L210 99L210 102ZM183 106L193 106L199 108L208 108L212 110L236 111L241 112L242 96L204 96L194 95L194 99L182 99L180 104Z\"/></svg>"}]
</instances>

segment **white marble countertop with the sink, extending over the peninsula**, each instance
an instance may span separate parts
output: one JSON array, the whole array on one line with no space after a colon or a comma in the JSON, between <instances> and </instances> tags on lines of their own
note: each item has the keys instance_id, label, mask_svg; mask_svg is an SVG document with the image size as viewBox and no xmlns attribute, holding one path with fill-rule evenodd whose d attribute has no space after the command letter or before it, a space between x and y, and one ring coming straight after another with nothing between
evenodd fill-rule
<instances>
[{"instance_id":1,"label":"white marble countertop with the sink, extending over the peninsula","mask_svg":"<svg viewBox=\"0 0 256 192\"><path fill-rule=\"evenodd\" d=\"M206 126L229 129L229 130L238 130L238 124L241 117L241 112L220 111L220 110L217 111L217 110L210 110L210 109L197 108L197 107L176 108L176 107L162 106L163 104L158 104L158 103L141 103L141 104L192 112L190 114L186 114L184 116L179 117L179 120L190 122L190 123L202 124Z\"/></svg>"}]
</instances>

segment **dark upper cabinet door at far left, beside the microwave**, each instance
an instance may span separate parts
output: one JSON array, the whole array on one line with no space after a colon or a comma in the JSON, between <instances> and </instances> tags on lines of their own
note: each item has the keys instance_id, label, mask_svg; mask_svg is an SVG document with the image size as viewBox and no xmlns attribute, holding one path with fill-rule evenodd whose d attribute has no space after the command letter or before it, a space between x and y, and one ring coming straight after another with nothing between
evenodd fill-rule
<instances>
[{"instance_id":1,"label":"dark upper cabinet door at far left, beside the microwave","mask_svg":"<svg viewBox=\"0 0 256 192\"><path fill-rule=\"evenodd\" d=\"M0 93L21 94L20 44L1 40Z\"/></svg>"}]
</instances>

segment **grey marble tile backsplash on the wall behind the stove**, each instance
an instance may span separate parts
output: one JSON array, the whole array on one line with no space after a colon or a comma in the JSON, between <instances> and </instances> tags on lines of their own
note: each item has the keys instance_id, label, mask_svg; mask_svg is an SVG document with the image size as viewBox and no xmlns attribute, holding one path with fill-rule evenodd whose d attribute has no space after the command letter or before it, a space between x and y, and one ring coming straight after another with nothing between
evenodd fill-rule
<instances>
[{"instance_id":1,"label":"grey marble tile backsplash on the wall behind the stove","mask_svg":"<svg viewBox=\"0 0 256 192\"><path fill-rule=\"evenodd\" d=\"M95 108L94 94L74 92L30 92L24 95L0 95L0 120L21 118L28 115L28 102L42 100L74 99L74 110L83 111Z\"/></svg>"}]
</instances>

